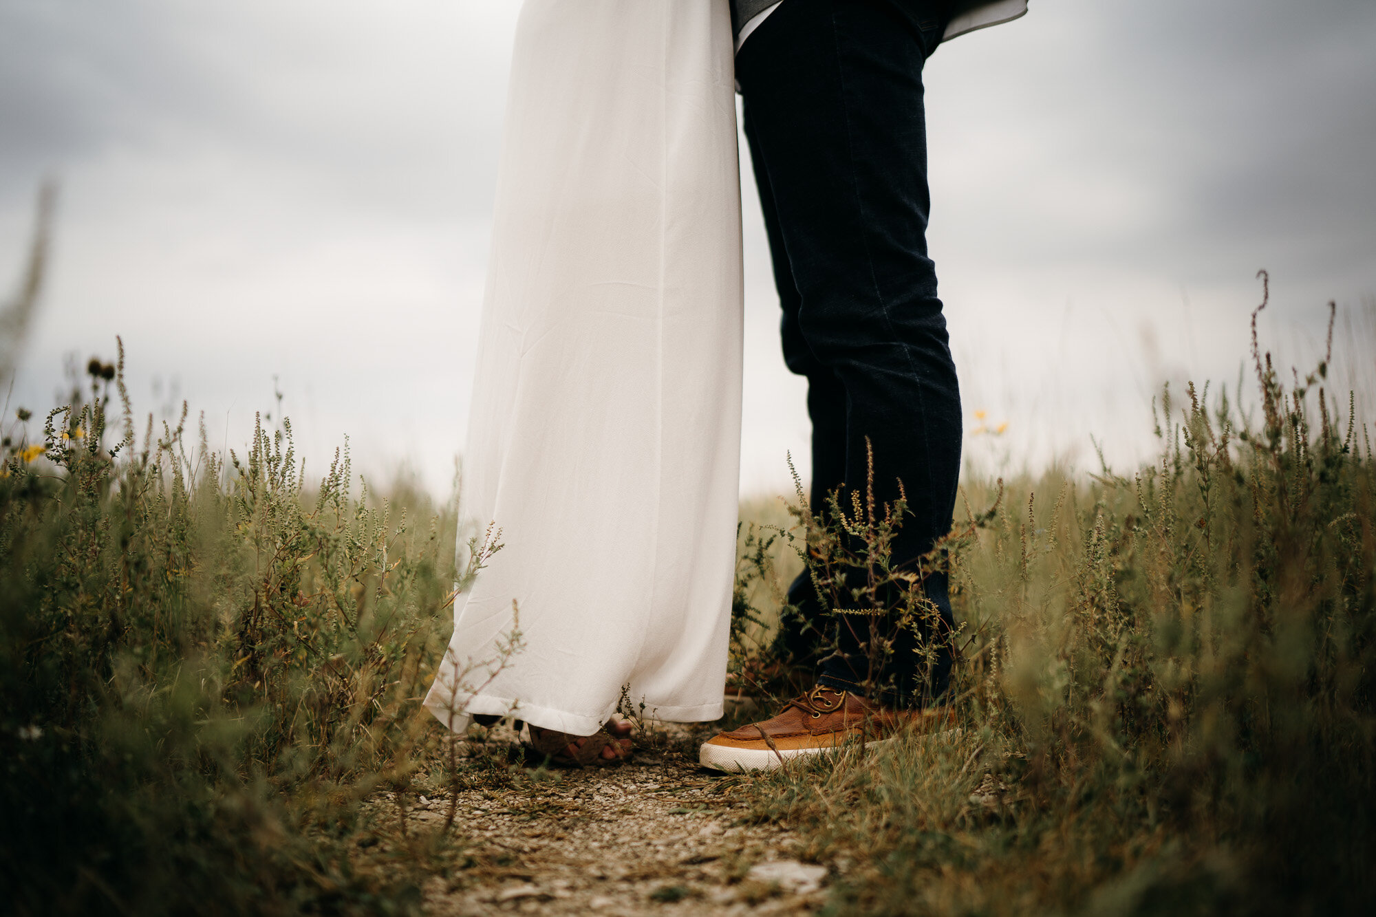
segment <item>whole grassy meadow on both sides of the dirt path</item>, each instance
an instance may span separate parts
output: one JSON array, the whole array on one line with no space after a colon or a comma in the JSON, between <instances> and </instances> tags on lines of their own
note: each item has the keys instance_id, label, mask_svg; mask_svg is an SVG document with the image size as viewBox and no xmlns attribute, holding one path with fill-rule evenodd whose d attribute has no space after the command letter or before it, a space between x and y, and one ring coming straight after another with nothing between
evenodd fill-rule
<instances>
[{"instance_id":1,"label":"whole grassy meadow on both sides of the dirt path","mask_svg":"<svg viewBox=\"0 0 1376 917\"><path fill-rule=\"evenodd\" d=\"M1255 425L1163 403L1127 476L966 481L962 731L722 790L838 866L841 913L1368 910L1376 465L1325 373L1282 390L1258 355ZM307 482L286 421L242 456L184 416L140 434L121 379L95 361L4 427L12 910L414 911L473 866L461 826L405 818L475 779L420 708L468 576L457 507L355 493L347 454ZM772 558L742 566L765 621Z\"/></svg>"}]
</instances>

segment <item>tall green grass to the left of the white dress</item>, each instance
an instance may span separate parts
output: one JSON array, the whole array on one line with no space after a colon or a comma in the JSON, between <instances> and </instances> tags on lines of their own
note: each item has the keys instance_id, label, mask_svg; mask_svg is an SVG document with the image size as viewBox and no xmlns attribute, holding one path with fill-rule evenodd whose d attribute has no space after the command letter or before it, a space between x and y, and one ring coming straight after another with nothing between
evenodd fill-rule
<instances>
[{"instance_id":1,"label":"tall green grass to the left of the white dress","mask_svg":"<svg viewBox=\"0 0 1376 917\"><path fill-rule=\"evenodd\" d=\"M308 489L288 421L223 458L204 427L187 443L184 412L140 441L122 372L94 362L89 381L6 430L14 909L414 909L425 856L361 862L359 801L409 792L435 756L417 699L461 578L454 508L351 496L347 453Z\"/></svg>"}]
</instances>

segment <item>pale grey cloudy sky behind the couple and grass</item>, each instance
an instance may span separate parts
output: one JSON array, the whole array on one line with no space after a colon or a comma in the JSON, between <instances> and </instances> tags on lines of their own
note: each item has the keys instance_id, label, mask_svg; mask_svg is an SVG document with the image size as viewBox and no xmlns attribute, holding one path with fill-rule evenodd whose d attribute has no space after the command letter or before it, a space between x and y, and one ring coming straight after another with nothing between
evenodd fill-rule
<instances>
[{"instance_id":1,"label":"pale grey cloudy sky behind the couple and grass","mask_svg":"<svg viewBox=\"0 0 1376 917\"><path fill-rule=\"evenodd\" d=\"M568 0L575 3L578 0ZM645 0L651 1L651 0ZM680 0L688 1L688 0ZM319 467L443 487L462 449L516 0L0 0L0 284L44 176L52 282L15 401L129 354L241 443L285 394ZM1237 379L1262 330L1376 388L1376 3L1033 0L927 67L941 277L985 467L1150 449L1164 380ZM749 175L749 169L746 171ZM806 453L747 185L743 487Z\"/></svg>"}]
</instances>

